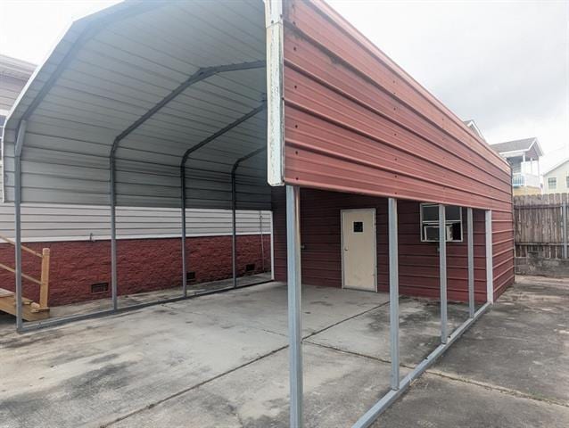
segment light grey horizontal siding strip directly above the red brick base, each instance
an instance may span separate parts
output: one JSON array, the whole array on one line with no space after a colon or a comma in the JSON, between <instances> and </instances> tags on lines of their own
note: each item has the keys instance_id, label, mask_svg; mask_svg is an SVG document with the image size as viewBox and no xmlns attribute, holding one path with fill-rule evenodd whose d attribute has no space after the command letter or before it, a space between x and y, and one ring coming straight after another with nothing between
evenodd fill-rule
<instances>
[{"instance_id":1,"label":"light grey horizontal siding strip directly above the red brick base","mask_svg":"<svg viewBox=\"0 0 569 428\"><path fill-rule=\"evenodd\" d=\"M231 235L231 211L187 210L188 236ZM0 204L0 235L13 237L13 205ZM23 205L24 242L85 241L110 239L108 207L78 205ZM127 238L178 237L180 210L169 208L117 208L117 235ZM237 210L237 233L270 233L270 211Z\"/></svg>"}]
</instances>

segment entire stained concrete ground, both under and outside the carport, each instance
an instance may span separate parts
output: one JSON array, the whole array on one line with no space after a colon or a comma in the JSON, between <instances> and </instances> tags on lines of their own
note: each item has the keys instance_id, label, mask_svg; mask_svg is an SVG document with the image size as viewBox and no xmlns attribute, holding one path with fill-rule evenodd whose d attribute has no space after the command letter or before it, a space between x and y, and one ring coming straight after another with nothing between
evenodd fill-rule
<instances>
[{"instance_id":1,"label":"entire stained concrete ground, both under and outside the carport","mask_svg":"<svg viewBox=\"0 0 569 428\"><path fill-rule=\"evenodd\" d=\"M376 426L567 426L568 299L564 284L516 284ZM308 427L350 426L387 391L387 300L304 287ZM429 300L400 308L404 375L438 344L439 314ZM449 306L451 325L465 318ZM9 333L0 426L285 427L286 343L278 283Z\"/></svg>"}]
</instances>

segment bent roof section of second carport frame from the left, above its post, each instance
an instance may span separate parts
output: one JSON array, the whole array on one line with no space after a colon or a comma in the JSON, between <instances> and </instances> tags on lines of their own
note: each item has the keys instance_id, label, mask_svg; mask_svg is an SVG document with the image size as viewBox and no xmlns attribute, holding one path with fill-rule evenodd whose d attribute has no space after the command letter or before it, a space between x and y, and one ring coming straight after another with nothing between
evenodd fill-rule
<instances>
[{"instance_id":1,"label":"bent roof section of second carport frame from the left, above its post","mask_svg":"<svg viewBox=\"0 0 569 428\"><path fill-rule=\"evenodd\" d=\"M153 117L155 113L160 111L165 105L167 105L170 101L184 92L189 86L192 86L198 82L206 78L210 78L219 73L224 73L227 71L237 71L237 70L252 70L252 69L260 69L265 67L264 61L254 61L254 62L239 62L235 64L227 64L227 65L218 65L214 67L205 67L197 70L192 76L186 79L182 84L177 86L169 95L166 95L164 98L161 99L159 103L153 106L152 109L146 111L144 115L142 115L139 119L136 120L132 125L122 131L119 136L114 139L112 143L111 149L111 157L114 156L114 153L117 151L119 147L119 143L121 140L126 138L129 134L136 130L136 128L140 127L146 120Z\"/></svg>"}]
</instances>

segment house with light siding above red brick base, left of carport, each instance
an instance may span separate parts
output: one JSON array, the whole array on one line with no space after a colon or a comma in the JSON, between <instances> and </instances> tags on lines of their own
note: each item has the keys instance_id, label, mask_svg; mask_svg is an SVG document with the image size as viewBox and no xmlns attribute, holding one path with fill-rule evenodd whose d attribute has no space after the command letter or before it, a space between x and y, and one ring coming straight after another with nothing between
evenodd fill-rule
<instances>
[{"instance_id":1,"label":"house with light siding above red brick base, left of carport","mask_svg":"<svg viewBox=\"0 0 569 428\"><path fill-rule=\"evenodd\" d=\"M29 62L0 55L0 131L35 68ZM3 169L0 235L13 238L14 207L12 203L1 202L4 175ZM231 211L188 209L186 212L186 235L191 238L187 240L188 279L199 283L230 277ZM45 203L22 206L22 241L37 251L42 247L52 251L50 306L110 295L110 222L108 206ZM237 210L236 223L237 272L241 275L270 270L270 211ZM119 255L131 256L118 269L120 294L181 284L180 236L179 209L118 207ZM0 241L0 263L13 266L13 256L12 245ZM23 262L25 274L35 274L39 268L36 259L24 255ZM0 269L0 288L12 288L13 282L12 272Z\"/></svg>"}]
</instances>

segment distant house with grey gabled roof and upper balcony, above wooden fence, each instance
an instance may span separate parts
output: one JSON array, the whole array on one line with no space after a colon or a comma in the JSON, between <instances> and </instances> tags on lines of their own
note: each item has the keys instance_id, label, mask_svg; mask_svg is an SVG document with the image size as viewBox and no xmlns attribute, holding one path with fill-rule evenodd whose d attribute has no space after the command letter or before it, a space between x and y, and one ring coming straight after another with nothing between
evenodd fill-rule
<instances>
[{"instance_id":1,"label":"distant house with grey gabled roof and upper balcony, above wooden fence","mask_svg":"<svg viewBox=\"0 0 569 428\"><path fill-rule=\"evenodd\" d=\"M540 194L540 157L543 156L536 137L491 144L491 148L512 167L514 195Z\"/></svg>"}]
</instances>

